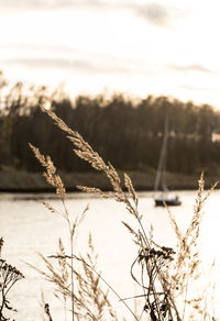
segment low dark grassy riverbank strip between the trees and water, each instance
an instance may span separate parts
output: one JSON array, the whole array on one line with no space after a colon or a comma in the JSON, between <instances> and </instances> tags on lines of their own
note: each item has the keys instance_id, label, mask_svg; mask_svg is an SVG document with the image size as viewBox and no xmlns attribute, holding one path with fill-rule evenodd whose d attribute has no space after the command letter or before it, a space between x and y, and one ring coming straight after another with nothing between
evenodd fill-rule
<instances>
[{"instance_id":1,"label":"low dark grassy riverbank strip between the trees and water","mask_svg":"<svg viewBox=\"0 0 220 321\"><path fill-rule=\"evenodd\" d=\"M133 181L136 190L153 190L155 170L147 171L130 171L128 173ZM98 187L102 190L111 190L111 186L101 173L59 173L67 191L77 191L78 185ZM123 173L120 173L123 177ZM197 189L199 175L183 175L167 173L167 185L170 190L190 190ZM218 180L218 177L206 176L206 187L209 188ZM26 173L12 168L3 168L0 170L0 191L2 192L52 192L54 191L48 186L41 173Z\"/></svg>"}]
</instances>

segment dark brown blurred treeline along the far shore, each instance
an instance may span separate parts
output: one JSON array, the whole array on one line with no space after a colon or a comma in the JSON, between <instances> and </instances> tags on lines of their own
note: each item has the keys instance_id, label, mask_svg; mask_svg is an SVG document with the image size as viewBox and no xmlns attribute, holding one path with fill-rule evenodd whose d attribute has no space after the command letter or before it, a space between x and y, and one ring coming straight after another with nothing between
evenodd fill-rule
<instances>
[{"instance_id":1,"label":"dark brown blurred treeline along the far shore","mask_svg":"<svg viewBox=\"0 0 220 321\"><path fill-rule=\"evenodd\" d=\"M73 102L59 91L48 95L45 87L25 92L22 84L4 95L1 92L1 168L42 170L28 145L31 142L51 155L64 171L90 170L74 155L70 142L40 110L45 97L52 110L118 169L146 171L157 167L168 117L167 170L194 174L205 169L218 174L220 113L208 104L196 106L164 96L134 101L122 95L109 99L101 95L79 96Z\"/></svg>"}]
</instances>

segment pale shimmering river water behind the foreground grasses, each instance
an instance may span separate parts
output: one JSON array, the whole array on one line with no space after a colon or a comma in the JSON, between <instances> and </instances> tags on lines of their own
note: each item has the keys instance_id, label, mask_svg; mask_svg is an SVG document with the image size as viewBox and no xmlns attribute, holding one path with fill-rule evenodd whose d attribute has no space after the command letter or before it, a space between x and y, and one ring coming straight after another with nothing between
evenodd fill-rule
<instances>
[{"instance_id":1,"label":"pale shimmering river water behind the foreground grasses","mask_svg":"<svg viewBox=\"0 0 220 321\"><path fill-rule=\"evenodd\" d=\"M194 211L195 191L182 191L182 207L172 208L180 228L186 229ZM64 320L61 302L54 299L53 286L40 277L25 262L45 269L37 252L48 256L56 254L57 240L62 237L68 244L68 232L64 220L51 213L31 195L0 195L0 236L4 237L2 257L11 265L16 266L25 279L19 281L11 290L11 303L19 312L16 321L43 320L41 317L41 292L51 303L54 321ZM48 201L56 209L62 204L53 196ZM163 208L155 208L151 192L140 192L140 213L143 214L143 224L154 229L154 239L158 244L175 246L175 233L169 224L168 214ZM131 280L130 266L135 258L135 246L131 234L122 225L122 221L134 224L123 204L114 200L103 200L84 193L68 195L67 206L72 217L80 214L89 203L89 210L78 229L75 240L75 253L86 253L89 232L92 235L96 251L99 253L98 264L102 276L120 294L128 297L139 294L139 287ZM212 192L205 207L205 218L201 226L200 254L205 266L211 265L216 255L219 255L219 191ZM218 257L217 257L218 258ZM112 297L114 306L123 311L121 303ZM120 312L119 312L120 313ZM129 320L129 319L128 319ZM132 319L130 319L132 320Z\"/></svg>"}]
</instances>

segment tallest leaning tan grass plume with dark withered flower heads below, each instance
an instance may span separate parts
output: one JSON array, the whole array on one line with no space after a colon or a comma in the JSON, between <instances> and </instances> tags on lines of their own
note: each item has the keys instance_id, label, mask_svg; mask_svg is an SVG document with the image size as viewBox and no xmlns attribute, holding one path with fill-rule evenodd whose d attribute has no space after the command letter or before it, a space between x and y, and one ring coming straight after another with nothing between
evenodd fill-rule
<instances>
[{"instance_id":1,"label":"tallest leaning tan grass plume with dark withered flower heads below","mask_svg":"<svg viewBox=\"0 0 220 321\"><path fill-rule=\"evenodd\" d=\"M105 193L100 189L97 188L90 188L90 187L84 187L79 186L78 188L82 191L98 193L102 197L113 197L117 201L123 202L127 210L133 215L133 218L136 219L140 231L139 233L134 232L133 229L130 229L128 224L125 226L130 230L130 232L135 235L136 242L140 246L140 263L142 265L142 288L147 288L146 291L146 299L148 300L148 309L150 309L150 317L152 320L155 320L155 318L158 321L165 320L167 316L172 317L172 309L176 311L177 319L180 320L178 317L177 308L174 303L173 298L170 297L170 292L167 288L167 283L165 281L165 277L163 275L163 266L166 262L166 259L172 259L172 252L163 252L162 256L160 254L160 251L154 251L153 255L151 253L151 240L147 237L145 230L142 224L142 217L139 213L138 204L139 199L136 197L135 190L133 188L132 181L130 177L124 174L124 185L127 187L129 196L123 191L121 179L116 170L116 168L110 163L105 163L103 159L99 156L97 152L92 150L92 147L75 131L70 130L64 121L62 121L55 113L53 113L50 110L43 109L44 112L46 112L56 123L56 125L67 133L67 137L73 142L75 145L74 152L77 156L82 158L84 160L88 162L95 169L103 171L107 177L109 178L113 191L110 195ZM131 198L131 200L130 200ZM151 258L150 258L151 256ZM150 259L148 259L150 258ZM143 275L146 272L148 277L148 287L144 286L144 278ZM163 288L162 292L162 299L161 295L158 295L158 291L156 290L157 285L156 283L161 284L161 287ZM164 316L162 316L162 302L164 305L168 306L166 308ZM132 312L133 313L133 312ZM168 314L167 314L168 313Z\"/></svg>"}]
</instances>

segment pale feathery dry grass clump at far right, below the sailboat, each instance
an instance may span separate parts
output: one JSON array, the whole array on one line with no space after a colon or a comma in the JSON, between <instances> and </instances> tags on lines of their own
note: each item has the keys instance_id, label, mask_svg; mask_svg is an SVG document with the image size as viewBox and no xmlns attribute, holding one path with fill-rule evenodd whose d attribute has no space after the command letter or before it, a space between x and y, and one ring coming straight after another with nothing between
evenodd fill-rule
<instances>
[{"instance_id":1,"label":"pale feathery dry grass clump at far right, below the sailboat","mask_svg":"<svg viewBox=\"0 0 220 321\"><path fill-rule=\"evenodd\" d=\"M179 230L174 217L167 208L170 223L178 242L174 268L172 274L167 273L167 279L169 280L170 290L173 292L172 296L180 298L179 300L184 301L182 320L185 320L186 312L190 318L198 319L198 316L200 316L201 319L198 320L204 320L204 314L206 313L206 294L202 291L201 287L199 292L196 294L197 285L201 284L204 277L198 251L198 240L200 235L200 224L204 217L204 204L211 191L216 188L217 184L218 182L216 182L204 196L205 180L204 174L201 174L198 181L194 215L185 233Z\"/></svg>"}]
</instances>

